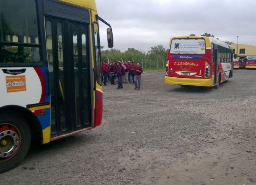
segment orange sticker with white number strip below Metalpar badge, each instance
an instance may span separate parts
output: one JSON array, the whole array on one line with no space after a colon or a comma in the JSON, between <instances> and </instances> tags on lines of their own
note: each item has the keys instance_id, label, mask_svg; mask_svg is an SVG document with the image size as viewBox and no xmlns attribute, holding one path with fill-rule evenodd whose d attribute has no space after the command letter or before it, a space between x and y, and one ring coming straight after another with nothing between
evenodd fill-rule
<instances>
[{"instance_id":1,"label":"orange sticker with white number strip below Metalpar badge","mask_svg":"<svg viewBox=\"0 0 256 185\"><path fill-rule=\"evenodd\" d=\"M25 75L6 76L5 78L6 78L7 93L27 90Z\"/></svg>"}]
</instances>

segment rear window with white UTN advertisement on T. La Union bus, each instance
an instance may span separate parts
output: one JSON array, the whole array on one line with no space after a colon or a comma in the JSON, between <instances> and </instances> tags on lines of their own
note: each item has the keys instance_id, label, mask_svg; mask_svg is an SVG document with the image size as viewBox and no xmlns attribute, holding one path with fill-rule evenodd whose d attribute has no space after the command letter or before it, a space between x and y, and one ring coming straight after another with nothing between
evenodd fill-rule
<instances>
[{"instance_id":1,"label":"rear window with white UTN advertisement on T. La Union bus","mask_svg":"<svg viewBox=\"0 0 256 185\"><path fill-rule=\"evenodd\" d=\"M172 39L170 54L204 55L205 40L202 38Z\"/></svg>"}]
</instances>

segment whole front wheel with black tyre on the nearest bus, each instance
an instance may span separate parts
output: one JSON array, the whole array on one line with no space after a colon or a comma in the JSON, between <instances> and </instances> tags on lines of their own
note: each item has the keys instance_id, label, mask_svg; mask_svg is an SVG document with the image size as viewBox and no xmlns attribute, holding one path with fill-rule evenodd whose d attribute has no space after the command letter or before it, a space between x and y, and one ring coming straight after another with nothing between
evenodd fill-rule
<instances>
[{"instance_id":1,"label":"whole front wheel with black tyre on the nearest bus","mask_svg":"<svg viewBox=\"0 0 256 185\"><path fill-rule=\"evenodd\" d=\"M10 170L25 158L31 143L28 123L10 113L0 114L0 173Z\"/></svg>"}]
</instances>

